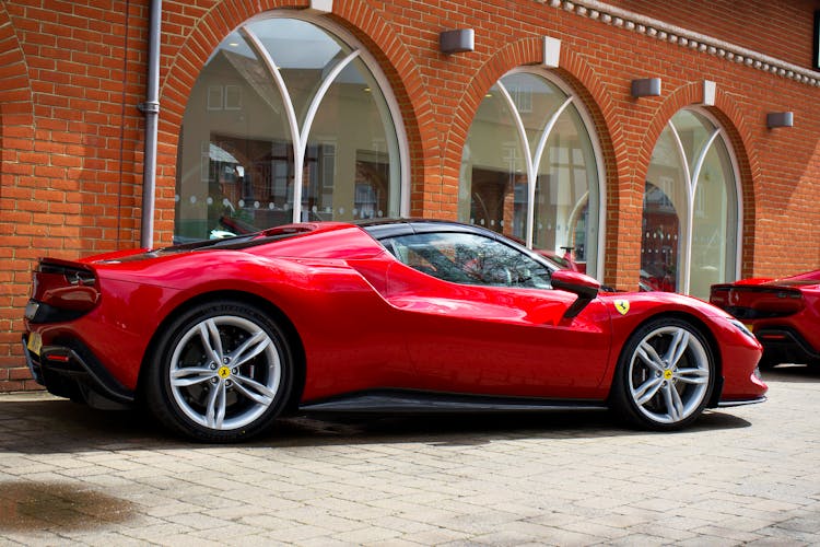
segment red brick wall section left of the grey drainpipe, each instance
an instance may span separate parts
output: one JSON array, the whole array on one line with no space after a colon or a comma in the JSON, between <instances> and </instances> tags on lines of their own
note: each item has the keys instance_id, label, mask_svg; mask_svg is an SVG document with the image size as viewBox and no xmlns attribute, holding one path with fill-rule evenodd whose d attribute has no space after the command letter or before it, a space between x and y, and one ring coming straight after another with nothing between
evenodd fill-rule
<instances>
[{"instance_id":1,"label":"red brick wall section left of the grey drainpipe","mask_svg":"<svg viewBox=\"0 0 820 547\"><path fill-rule=\"evenodd\" d=\"M33 261L139 238L147 10L0 4L0 389L32 387L20 348Z\"/></svg>"}]
</instances>

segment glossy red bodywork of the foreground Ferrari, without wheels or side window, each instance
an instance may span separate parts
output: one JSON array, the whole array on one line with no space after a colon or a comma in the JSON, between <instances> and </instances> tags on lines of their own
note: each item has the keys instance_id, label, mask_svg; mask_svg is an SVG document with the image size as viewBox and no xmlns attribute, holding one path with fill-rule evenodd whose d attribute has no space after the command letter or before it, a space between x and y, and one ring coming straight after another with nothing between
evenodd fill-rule
<instances>
[{"instance_id":1,"label":"glossy red bodywork of the foreground Ferrari, without wheels or side window","mask_svg":"<svg viewBox=\"0 0 820 547\"><path fill-rule=\"evenodd\" d=\"M554 284L591 291L570 317L577 291L445 281L374 237L327 222L75 263L44 259L26 313L30 365L58 395L96 406L139 401L169 325L194 305L231 300L253 304L285 333L296 370L289 409L332 410L342 400L351 409L407 406L407 398L362 397L375 393L605 407L633 333L677 317L702 331L715 356L708 406L764 398L760 345L712 305L678 294L596 295L591 278L553 272Z\"/></svg>"}]
</instances>

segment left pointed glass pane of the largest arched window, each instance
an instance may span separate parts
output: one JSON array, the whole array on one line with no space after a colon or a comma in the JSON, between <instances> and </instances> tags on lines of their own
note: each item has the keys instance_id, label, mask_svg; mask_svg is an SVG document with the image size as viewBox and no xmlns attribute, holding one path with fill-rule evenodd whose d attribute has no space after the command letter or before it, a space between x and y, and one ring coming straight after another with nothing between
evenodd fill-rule
<instances>
[{"instance_id":1,"label":"left pointed glass pane of the largest arched window","mask_svg":"<svg viewBox=\"0 0 820 547\"><path fill-rule=\"evenodd\" d=\"M177 241L290 221L293 149L283 102L239 33L213 53L191 90L177 158Z\"/></svg>"}]
</instances>

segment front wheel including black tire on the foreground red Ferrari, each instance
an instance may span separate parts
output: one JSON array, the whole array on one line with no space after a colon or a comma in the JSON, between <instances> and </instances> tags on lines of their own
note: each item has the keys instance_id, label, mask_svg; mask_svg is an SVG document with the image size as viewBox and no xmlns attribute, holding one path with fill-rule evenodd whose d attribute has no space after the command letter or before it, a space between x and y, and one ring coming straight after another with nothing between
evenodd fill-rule
<instances>
[{"instance_id":1,"label":"front wheel including black tire on the foreground red Ferrari","mask_svg":"<svg viewBox=\"0 0 820 547\"><path fill-rule=\"evenodd\" d=\"M670 431L703 412L717 374L712 348L691 323L658 317L623 346L610 406L629 424Z\"/></svg>"}]
</instances>

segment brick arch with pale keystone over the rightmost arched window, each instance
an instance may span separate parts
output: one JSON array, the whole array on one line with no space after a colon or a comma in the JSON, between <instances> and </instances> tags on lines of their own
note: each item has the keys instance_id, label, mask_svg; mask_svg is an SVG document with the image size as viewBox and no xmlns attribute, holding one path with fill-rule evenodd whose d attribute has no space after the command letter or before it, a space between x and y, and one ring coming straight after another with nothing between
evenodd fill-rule
<instances>
[{"instance_id":1,"label":"brick arch with pale keystone over the rightmost arched window","mask_svg":"<svg viewBox=\"0 0 820 547\"><path fill-rule=\"evenodd\" d=\"M646 179L649 170L652 153L655 149L660 133L675 114L690 106L703 104L703 82L690 82L670 93L658 108L652 124L647 128L635 165L635 184ZM743 240L741 242L741 277L751 276L750 266L753 264L754 246L748 242L752 241L755 230L755 195L754 181L760 173L760 159L758 147L754 143L754 131L749 127L747 119L750 117L745 113L727 93L718 92L715 95L715 105L705 107L710 114L717 118L726 132L727 141L731 146L737 161L738 175L740 177L740 191L742 193ZM643 186L641 184L641 191Z\"/></svg>"}]
</instances>

